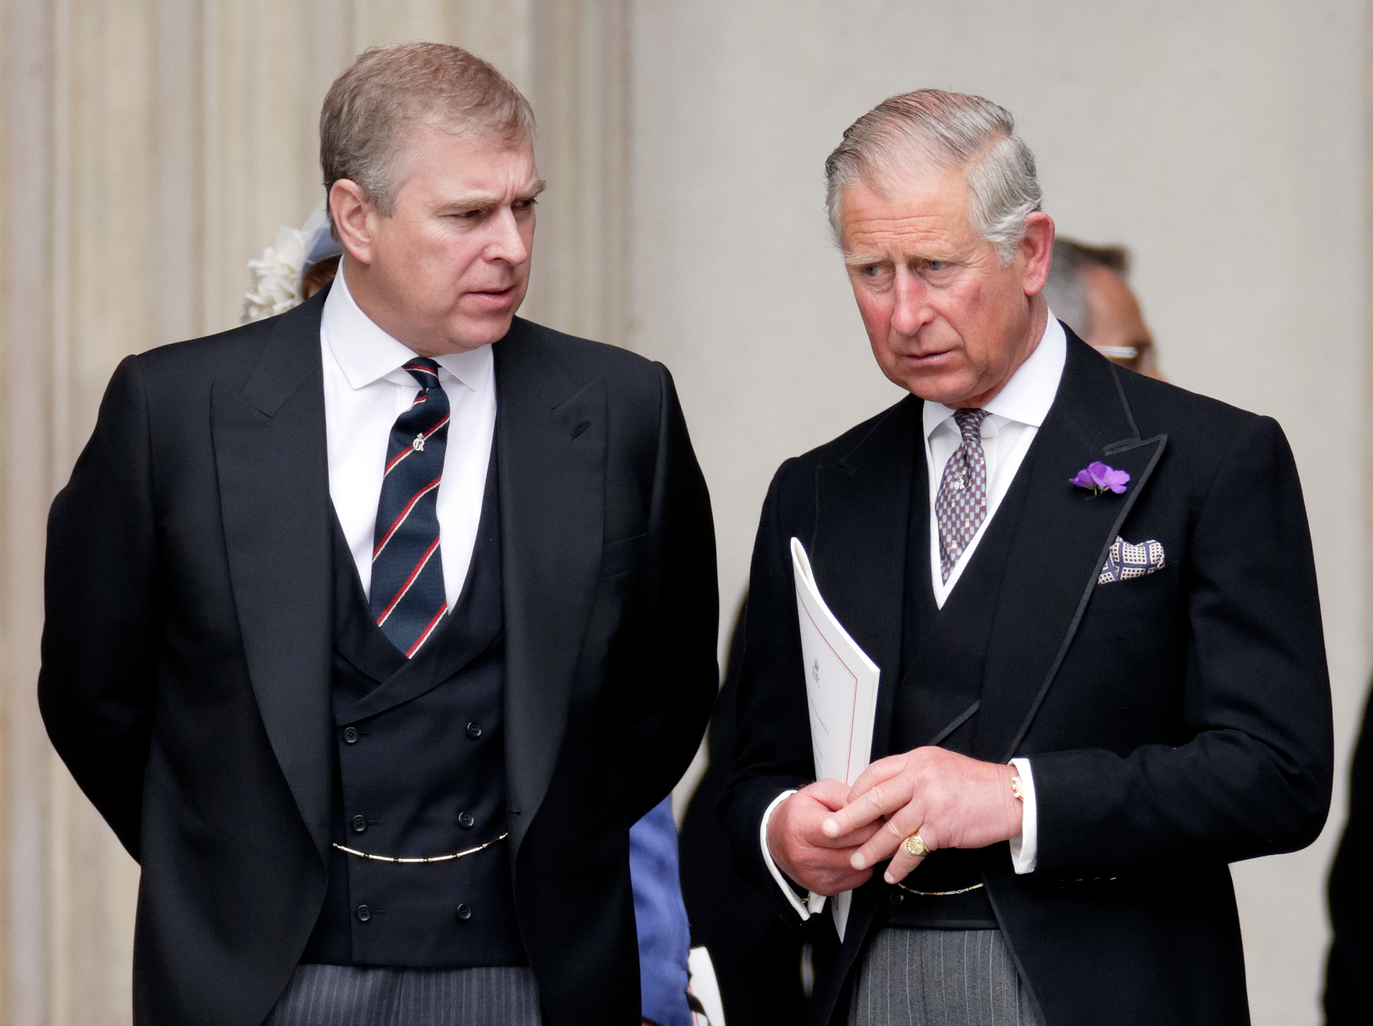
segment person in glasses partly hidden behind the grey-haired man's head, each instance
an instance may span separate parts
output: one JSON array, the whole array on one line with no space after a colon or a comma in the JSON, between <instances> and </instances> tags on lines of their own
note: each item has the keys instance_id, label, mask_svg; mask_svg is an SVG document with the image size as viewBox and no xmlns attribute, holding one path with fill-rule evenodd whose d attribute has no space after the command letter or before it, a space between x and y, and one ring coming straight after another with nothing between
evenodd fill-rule
<instances>
[{"instance_id":1,"label":"person in glasses partly hidden behind the grey-haired man's head","mask_svg":"<svg viewBox=\"0 0 1373 1026\"><path fill-rule=\"evenodd\" d=\"M1054 316L1101 356L1162 380L1153 335L1126 283L1129 273L1124 246L1087 246L1060 236L1053 240L1043 298Z\"/></svg>"}]
</instances>

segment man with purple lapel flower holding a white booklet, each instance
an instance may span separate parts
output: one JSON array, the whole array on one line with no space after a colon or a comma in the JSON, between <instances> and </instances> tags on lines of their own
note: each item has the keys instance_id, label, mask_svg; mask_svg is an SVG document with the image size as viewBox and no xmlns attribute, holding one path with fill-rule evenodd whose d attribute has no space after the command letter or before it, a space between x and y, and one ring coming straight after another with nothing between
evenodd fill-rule
<instances>
[{"instance_id":1,"label":"man with purple lapel flower holding a white booklet","mask_svg":"<svg viewBox=\"0 0 1373 1026\"><path fill-rule=\"evenodd\" d=\"M827 177L912 396L773 479L722 798L785 915L857 889L811 1022L1247 1022L1226 864L1315 838L1332 769L1287 441L1049 317L1053 224L995 104L892 98ZM881 670L851 791L811 783L792 537Z\"/></svg>"}]
</instances>

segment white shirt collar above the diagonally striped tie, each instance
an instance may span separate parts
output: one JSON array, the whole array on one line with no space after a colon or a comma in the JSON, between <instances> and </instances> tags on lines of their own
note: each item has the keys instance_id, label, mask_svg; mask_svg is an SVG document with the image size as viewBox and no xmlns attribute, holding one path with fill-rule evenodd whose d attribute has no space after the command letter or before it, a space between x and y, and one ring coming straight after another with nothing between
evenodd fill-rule
<instances>
[{"instance_id":1,"label":"white shirt collar above the diagonally striped tie","mask_svg":"<svg viewBox=\"0 0 1373 1026\"><path fill-rule=\"evenodd\" d=\"M324 343L354 389L362 389L398 371L405 375L401 383L408 385L409 375L401 368L416 356L415 350L386 334L357 305L343 279L346 264L347 258L339 261L334 287L324 298L320 323ZM437 356L434 361L472 391L479 391L486 385L494 367L490 345Z\"/></svg>"}]
</instances>

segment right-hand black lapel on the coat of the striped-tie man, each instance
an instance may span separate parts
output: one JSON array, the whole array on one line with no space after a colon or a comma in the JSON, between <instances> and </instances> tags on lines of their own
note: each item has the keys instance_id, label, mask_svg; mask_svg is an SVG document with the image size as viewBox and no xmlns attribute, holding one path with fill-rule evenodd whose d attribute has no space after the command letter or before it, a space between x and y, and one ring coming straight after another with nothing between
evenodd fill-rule
<instances>
[{"instance_id":1,"label":"right-hand black lapel on the coat of the striped-tie man","mask_svg":"<svg viewBox=\"0 0 1373 1026\"><path fill-rule=\"evenodd\" d=\"M496 343L512 853L548 791L600 567L604 383L574 380L516 319Z\"/></svg>"}]
</instances>

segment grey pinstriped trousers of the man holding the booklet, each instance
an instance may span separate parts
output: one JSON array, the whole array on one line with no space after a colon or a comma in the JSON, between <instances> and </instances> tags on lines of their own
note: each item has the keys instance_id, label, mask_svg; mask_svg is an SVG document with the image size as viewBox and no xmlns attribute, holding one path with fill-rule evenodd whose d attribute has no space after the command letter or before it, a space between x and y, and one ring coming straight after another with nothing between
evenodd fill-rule
<instances>
[{"instance_id":1,"label":"grey pinstriped trousers of the man holding the booklet","mask_svg":"<svg viewBox=\"0 0 1373 1026\"><path fill-rule=\"evenodd\" d=\"M879 931L849 1026L1039 1026L1000 930Z\"/></svg>"}]
</instances>

